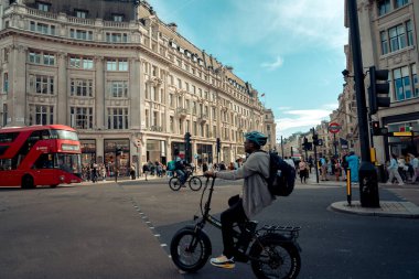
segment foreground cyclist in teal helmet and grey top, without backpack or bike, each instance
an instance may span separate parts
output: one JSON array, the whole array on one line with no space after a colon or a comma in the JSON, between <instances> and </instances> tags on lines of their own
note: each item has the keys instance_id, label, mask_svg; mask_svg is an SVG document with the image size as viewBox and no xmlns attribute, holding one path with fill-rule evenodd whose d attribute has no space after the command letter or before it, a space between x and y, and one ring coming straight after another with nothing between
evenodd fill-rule
<instances>
[{"instance_id":1,"label":"foreground cyclist in teal helmet and grey top, without backpack or bike","mask_svg":"<svg viewBox=\"0 0 419 279\"><path fill-rule=\"evenodd\" d=\"M232 196L228 200L229 208L221 215L224 250L223 255L211 259L211 264L221 268L234 268L234 223L243 223L250 219L266 206L270 205L275 196L270 194L266 180L269 178L269 154L260 151L268 137L259 131L245 133L245 152L248 153L246 162L233 171L206 171L206 176L224 180L244 179L243 196Z\"/></svg>"}]
</instances>

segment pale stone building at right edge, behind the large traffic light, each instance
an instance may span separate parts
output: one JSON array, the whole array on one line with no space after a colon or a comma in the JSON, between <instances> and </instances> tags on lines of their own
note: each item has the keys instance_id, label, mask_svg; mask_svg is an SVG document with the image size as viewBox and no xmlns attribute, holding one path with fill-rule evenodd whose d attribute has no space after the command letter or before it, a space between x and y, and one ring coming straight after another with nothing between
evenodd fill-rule
<instances>
[{"instance_id":1,"label":"pale stone building at right edge, behind the large traffic light","mask_svg":"<svg viewBox=\"0 0 419 279\"><path fill-rule=\"evenodd\" d=\"M389 132L413 131L407 137L372 137L377 161L383 163L388 161L390 153L401 155L407 149L419 151L419 2L358 0L357 6L363 66L365 71L370 66L389 71L390 107L379 108L372 120L379 121L380 127ZM347 14L345 26L350 26ZM353 73L351 64L347 69ZM366 73L366 87L369 83ZM347 90L351 90L350 95L354 94L350 85Z\"/></svg>"}]
</instances>

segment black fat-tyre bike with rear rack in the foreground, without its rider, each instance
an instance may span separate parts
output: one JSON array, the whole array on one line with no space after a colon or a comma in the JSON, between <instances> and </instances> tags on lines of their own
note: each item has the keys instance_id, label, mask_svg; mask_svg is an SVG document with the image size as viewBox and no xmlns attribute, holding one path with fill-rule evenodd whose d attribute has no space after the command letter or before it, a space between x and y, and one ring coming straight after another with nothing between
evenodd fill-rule
<instances>
[{"instance_id":1,"label":"black fat-tyre bike with rear rack in the foreground, without its rider","mask_svg":"<svg viewBox=\"0 0 419 279\"><path fill-rule=\"evenodd\" d=\"M210 214L215 178L203 208L206 180L200 207L202 217L195 225L178 230L171 242L170 253L174 265L183 271L195 272L203 268L212 254L210 237L204 230L206 223L221 229L222 224ZM301 269L300 245L297 243L301 227L265 225L257 229L256 221L246 221L234 227L236 261L251 264L257 278L297 278Z\"/></svg>"}]
</instances>

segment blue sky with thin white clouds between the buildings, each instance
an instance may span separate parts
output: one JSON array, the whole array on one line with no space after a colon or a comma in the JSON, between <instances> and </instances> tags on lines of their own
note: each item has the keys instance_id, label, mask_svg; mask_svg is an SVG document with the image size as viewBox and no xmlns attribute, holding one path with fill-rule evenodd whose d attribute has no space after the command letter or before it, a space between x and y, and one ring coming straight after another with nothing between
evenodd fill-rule
<instances>
[{"instance_id":1,"label":"blue sky with thin white clouds between the buildings","mask_svg":"<svg viewBox=\"0 0 419 279\"><path fill-rule=\"evenodd\" d=\"M277 138L337 108L345 68L344 0L148 0L159 19L259 92Z\"/></svg>"}]
</instances>

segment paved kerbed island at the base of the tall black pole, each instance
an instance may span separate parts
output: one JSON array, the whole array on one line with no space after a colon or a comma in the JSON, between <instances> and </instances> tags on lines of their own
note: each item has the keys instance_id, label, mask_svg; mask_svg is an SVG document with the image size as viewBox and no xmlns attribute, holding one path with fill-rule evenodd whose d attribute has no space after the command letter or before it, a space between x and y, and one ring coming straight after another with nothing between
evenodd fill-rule
<instances>
[{"instance_id":1,"label":"paved kerbed island at the base of the tall black pole","mask_svg":"<svg viewBox=\"0 0 419 279\"><path fill-rule=\"evenodd\" d=\"M363 216L384 216L399 218L419 218L419 206L410 202L382 201L380 207L362 207L361 202L354 201L350 206L346 201L335 202L329 206L331 210Z\"/></svg>"}]
</instances>

